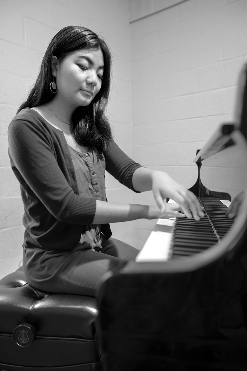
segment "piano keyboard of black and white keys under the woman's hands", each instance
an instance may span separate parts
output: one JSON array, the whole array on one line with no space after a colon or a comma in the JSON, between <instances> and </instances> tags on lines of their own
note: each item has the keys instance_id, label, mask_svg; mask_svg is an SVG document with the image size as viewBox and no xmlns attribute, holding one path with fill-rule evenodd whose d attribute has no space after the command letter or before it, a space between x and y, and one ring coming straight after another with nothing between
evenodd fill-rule
<instances>
[{"instance_id":1,"label":"piano keyboard of black and white keys under the woman's hands","mask_svg":"<svg viewBox=\"0 0 247 371\"><path fill-rule=\"evenodd\" d=\"M199 200L204 209L204 217L200 221L187 217L158 219L136 261L167 261L186 257L220 241L234 221L225 215L230 201L211 197Z\"/></svg>"}]
</instances>

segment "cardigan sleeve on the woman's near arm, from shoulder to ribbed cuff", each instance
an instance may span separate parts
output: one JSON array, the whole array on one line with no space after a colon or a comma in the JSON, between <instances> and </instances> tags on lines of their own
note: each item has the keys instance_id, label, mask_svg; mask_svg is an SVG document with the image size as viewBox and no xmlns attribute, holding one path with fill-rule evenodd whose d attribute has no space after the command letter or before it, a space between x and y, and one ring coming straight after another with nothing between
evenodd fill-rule
<instances>
[{"instance_id":1,"label":"cardigan sleeve on the woman's near arm, from shoulder to ribbed cuff","mask_svg":"<svg viewBox=\"0 0 247 371\"><path fill-rule=\"evenodd\" d=\"M48 210L62 222L91 224L96 200L74 192L65 176L66 165L62 161L59 166L57 162L49 133L33 120L14 119L8 136L11 167L24 201L36 207L43 217Z\"/></svg>"}]
</instances>

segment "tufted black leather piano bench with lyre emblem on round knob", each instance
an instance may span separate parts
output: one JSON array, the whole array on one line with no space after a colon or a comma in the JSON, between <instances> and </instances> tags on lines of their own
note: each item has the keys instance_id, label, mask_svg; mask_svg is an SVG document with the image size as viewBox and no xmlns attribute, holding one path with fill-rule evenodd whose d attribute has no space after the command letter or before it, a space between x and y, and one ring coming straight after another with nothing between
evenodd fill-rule
<instances>
[{"instance_id":1,"label":"tufted black leather piano bench with lyre emblem on round knob","mask_svg":"<svg viewBox=\"0 0 247 371\"><path fill-rule=\"evenodd\" d=\"M0 370L100 370L96 299L36 290L22 267L0 280Z\"/></svg>"}]
</instances>

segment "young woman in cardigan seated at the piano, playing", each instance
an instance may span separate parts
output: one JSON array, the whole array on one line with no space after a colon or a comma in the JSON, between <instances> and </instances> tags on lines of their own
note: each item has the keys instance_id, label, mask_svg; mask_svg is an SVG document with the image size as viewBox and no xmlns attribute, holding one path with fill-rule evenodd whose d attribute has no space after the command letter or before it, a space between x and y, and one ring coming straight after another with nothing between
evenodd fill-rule
<instances>
[{"instance_id":1,"label":"young woman in cardigan seated at the piano, playing","mask_svg":"<svg viewBox=\"0 0 247 371\"><path fill-rule=\"evenodd\" d=\"M103 39L68 26L51 40L37 81L9 126L9 156L24 203L23 269L49 292L95 296L104 273L138 250L110 238L109 223L203 216L197 198L168 174L116 145L104 110L111 54ZM156 205L106 202L105 170ZM178 204L170 206L170 197ZM184 214L178 213L182 210Z\"/></svg>"}]
</instances>

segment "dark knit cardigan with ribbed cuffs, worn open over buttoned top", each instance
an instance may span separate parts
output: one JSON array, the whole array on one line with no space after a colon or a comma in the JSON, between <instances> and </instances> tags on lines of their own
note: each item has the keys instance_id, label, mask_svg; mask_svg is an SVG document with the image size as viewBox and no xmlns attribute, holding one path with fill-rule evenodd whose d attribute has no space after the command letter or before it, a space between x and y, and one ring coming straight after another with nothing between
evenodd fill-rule
<instances>
[{"instance_id":1,"label":"dark knit cardigan with ribbed cuffs, worn open over buttoned top","mask_svg":"<svg viewBox=\"0 0 247 371\"><path fill-rule=\"evenodd\" d=\"M93 222L96 199L79 196L63 132L26 108L11 121L8 137L11 168L24 204L23 247L72 250L80 240L81 224ZM135 191L132 176L141 165L113 140L104 157L106 171ZM103 224L101 230L109 239L109 224Z\"/></svg>"}]
</instances>

